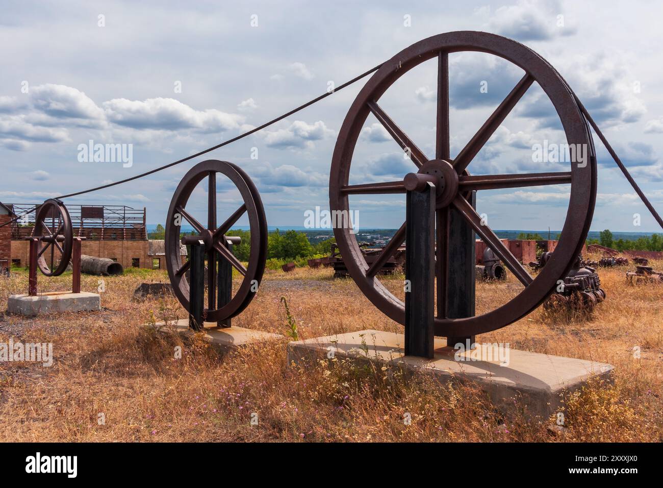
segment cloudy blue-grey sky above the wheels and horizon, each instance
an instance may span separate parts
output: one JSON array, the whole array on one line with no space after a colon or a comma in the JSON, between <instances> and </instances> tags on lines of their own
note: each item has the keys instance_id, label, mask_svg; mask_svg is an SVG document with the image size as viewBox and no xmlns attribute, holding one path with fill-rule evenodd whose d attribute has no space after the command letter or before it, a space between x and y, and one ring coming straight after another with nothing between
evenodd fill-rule
<instances>
[{"instance_id":1,"label":"cloudy blue-grey sky above the wheels and horizon","mask_svg":"<svg viewBox=\"0 0 663 488\"><path fill-rule=\"evenodd\" d=\"M522 42L546 58L663 211L662 16L655 1L3 0L0 201L40 203L149 171L271 120L414 42L475 30ZM520 68L489 54L450 55L452 157L521 76ZM255 181L270 226L302 226L306 210L329 208L336 136L368 79L204 157L65 203L146 207L149 223L163 223L184 173L221 159ZM425 153L434 153L435 60L404 74L380 103ZM660 231L594 140L599 187L591 230ZM81 147L89 141L126 144L131 164L86 161ZM569 163L532 160L532 147L544 141L566 142L552 104L534 84L468 170L568 171ZM414 169L369 116L350 183L394 181ZM206 208L204 186L186 207L198 218ZM481 191L477 211L494 229L556 230L569 191L569 185ZM219 220L238 202L232 185L219 181ZM362 228L404 221L404 195L352 196L350 205Z\"/></svg>"}]
</instances>

